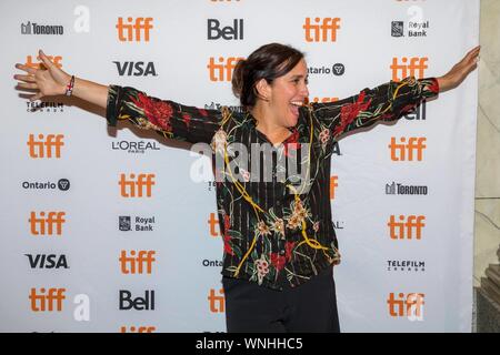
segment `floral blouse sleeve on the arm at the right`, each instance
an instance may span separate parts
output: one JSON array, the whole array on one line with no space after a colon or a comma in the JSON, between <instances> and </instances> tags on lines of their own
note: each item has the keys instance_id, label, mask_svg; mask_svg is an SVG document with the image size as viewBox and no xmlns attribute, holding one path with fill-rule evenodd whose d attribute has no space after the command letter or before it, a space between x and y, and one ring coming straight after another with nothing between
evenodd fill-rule
<instances>
[{"instance_id":1,"label":"floral blouse sleeve on the arm at the right","mask_svg":"<svg viewBox=\"0 0 500 355\"><path fill-rule=\"evenodd\" d=\"M329 103L314 103L312 110L332 132L333 139L374 124L394 121L417 108L424 99L437 97L439 84L434 78L406 78L390 81L374 89L364 89L358 95Z\"/></svg>"}]
</instances>

